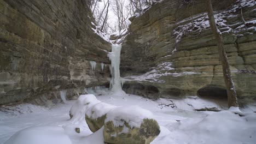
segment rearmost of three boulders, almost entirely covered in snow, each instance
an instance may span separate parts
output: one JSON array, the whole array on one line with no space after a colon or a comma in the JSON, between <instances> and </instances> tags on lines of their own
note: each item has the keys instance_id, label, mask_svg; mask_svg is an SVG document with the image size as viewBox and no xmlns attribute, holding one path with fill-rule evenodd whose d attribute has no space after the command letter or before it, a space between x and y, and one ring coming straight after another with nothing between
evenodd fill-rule
<instances>
[{"instance_id":1,"label":"rearmost of three boulders, almost entirely covered in snow","mask_svg":"<svg viewBox=\"0 0 256 144\"><path fill-rule=\"evenodd\" d=\"M69 111L69 116L71 119L84 119L84 114L86 110L88 110L91 106L100 103L100 100L97 100L95 95L93 94L85 94L85 95L80 95L77 101L72 105L70 111Z\"/></svg>"}]
</instances>

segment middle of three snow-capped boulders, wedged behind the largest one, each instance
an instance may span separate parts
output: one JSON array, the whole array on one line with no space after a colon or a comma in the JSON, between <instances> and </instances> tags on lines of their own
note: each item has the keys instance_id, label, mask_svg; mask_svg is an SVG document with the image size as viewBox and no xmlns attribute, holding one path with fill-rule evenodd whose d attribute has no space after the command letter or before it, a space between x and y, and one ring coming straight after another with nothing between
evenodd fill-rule
<instances>
[{"instance_id":1,"label":"middle of three snow-capped boulders, wedged behind the largest one","mask_svg":"<svg viewBox=\"0 0 256 144\"><path fill-rule=\"evenodd\" d=\"M85 120L92 132L99 130L103 125L107 113L117 106L107 103L98 103L91 106L85 113Z\"/></svg>"}]
</instances>

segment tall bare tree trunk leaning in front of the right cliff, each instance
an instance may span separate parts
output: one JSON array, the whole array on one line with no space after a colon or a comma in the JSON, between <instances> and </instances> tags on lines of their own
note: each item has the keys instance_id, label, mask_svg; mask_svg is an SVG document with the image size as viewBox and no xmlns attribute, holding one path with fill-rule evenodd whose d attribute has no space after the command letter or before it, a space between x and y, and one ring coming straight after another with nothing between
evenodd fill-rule
<instances>
[{"instance_id":1,"label":"tall bare tree trunk leaning in front of the right cliff","mask_svg":"<svg viewBox=\"0 0 256 144\"><path fill-rule=\"evenodd\" d=\"M207 0L207 12L208 12L208 17L209 17L212 32L214 34L214 37L217 40L219 59L222 63L222 70L223 70L223 76L224 76L224 81L226 85L226 92L228 93L228 105L229 107L231 106L237 107L238 104L237 104L237 97L236 97L236 89L231 77L229 61L224 49L222 33L217 28L217 25L215 22L211 0Z\"/></svg>"}]
</instances>

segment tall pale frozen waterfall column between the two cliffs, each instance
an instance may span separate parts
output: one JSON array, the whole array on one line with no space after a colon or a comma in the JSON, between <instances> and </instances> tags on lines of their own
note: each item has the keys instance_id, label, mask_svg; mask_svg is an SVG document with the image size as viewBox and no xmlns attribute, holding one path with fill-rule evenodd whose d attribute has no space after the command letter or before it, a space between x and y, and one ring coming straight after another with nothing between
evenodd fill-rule
<instances>
[{"instance_id":1,"label":"tall pale frozen waterfall column between the two cliffs","mask_svg":"<svg viewBox=\"0 0 256 144\"><path fill-rule=\"evenodd\" d=\"M110 86L112 92L123 92L121 87L121 77L120 77L120 54L121 45L113 44L112 52L109 52L108 57L111 61L111 66L109 67L112 78L110 80Z\"/></svg>"}]
</instances>

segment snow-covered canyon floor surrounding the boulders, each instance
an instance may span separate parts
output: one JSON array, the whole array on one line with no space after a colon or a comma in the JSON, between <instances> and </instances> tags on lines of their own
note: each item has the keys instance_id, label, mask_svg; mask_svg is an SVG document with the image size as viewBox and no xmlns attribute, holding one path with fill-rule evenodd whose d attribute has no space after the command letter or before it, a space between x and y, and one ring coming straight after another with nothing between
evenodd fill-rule
<instances>
[{"instance_id":1,"label":"snow-covered canyon floor surrounding the boulders","mask_svg":"<svg viewBox=\"0 0 256 144\"><path fill-rule=\"evenodd\" d=\"M153 101L138 95L99 95L97 99L116 106L138 105L154 114L161 133L152 144L164 143L255 143L256 113L255 106L243 109L245 116L226 111L219 101L210 101L198 97L185 99L159 99ZM69 120L69 110L74 100L66 101L56 107L31 104L4 107L0 111L0 143L7 141L17 131L28 128L12 137L16 143L28 143L28 140L41 143L94 143L103 144L102 129L92 132L85 121ZM197 112L195 109L216 107L220 112ZM4 110L4 111L3 111ZM74 131L80 128L80 133ZM34 134L34 135L33 135ZM28 137L29 136L29 137ZM31 137L33 139L31 139ZM65 141L64 141L65 140ZM40 143L39 142L39 143Z\"/></svg>"}]
</instances>

